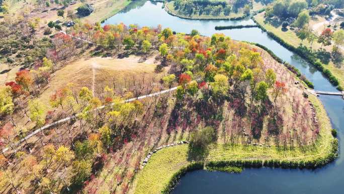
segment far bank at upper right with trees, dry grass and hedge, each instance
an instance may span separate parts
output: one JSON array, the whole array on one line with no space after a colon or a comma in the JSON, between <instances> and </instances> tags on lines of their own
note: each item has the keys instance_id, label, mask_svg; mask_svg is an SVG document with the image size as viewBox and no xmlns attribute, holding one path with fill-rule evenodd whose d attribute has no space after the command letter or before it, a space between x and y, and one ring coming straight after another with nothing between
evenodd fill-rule
<instances>
[{"instance_id":1,"label":"far bank at upper right with trees, dry grass and hedge","mask_svg":"<svg viewBox=\"0 0 344 194\"><path fill-rule=\"evenodd\" d=\"M254 16L253 20L280 44L306 58L337 86L338 90L343 90L341 45L344 31L325 28L318 35L308 25L309 14L329 15L334 8L340 9L343 6L339 1L314 4L306 1L274 1L265 13Z\"/></svg>"}]
</instances>

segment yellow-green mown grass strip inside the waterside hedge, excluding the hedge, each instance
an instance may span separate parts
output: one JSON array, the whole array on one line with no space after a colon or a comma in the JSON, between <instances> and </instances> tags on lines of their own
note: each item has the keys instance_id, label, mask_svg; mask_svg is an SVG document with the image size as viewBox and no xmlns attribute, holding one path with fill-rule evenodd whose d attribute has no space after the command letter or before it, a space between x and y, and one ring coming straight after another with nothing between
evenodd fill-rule
<instances>
[{"instance_id":1,"label":"yellow-green mown grass strip inside the waterside hedge, excluding the hedge","mask_svg":"<svg viewBox=\"0 0 344 194\"><path fill-rule=\"evenodd\" d=\"M331 124L327 113L321 102L313 95L309 95L309 100L321 123L321 130L316 145L308 148L295 148L294 150L283 150L276 147L260 146L225 146L218 144L211 148L206 161L214 160L253 160L253 159L279 159L279 160L312 160L323 157L331 152ZM136 179L135 194L157 194L168 183L169 179L182 166L190 163L188 158L188 146L179 145L175 147L163 148L153 154L147 165L139 172Z\"/></svg>"}]
</instances>

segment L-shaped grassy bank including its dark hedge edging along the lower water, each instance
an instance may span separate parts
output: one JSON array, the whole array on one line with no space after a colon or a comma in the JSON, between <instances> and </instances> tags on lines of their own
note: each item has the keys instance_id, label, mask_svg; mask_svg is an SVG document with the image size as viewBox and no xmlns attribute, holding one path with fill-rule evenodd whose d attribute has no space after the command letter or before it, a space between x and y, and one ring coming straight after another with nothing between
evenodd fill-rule
<instances>
[{"instance_id":1,"label":"L-shaped grassy bank including its dark hedge edging along the lower water","mask_svg":"<svg viewBox=\"0 0 344 194\"><path fill-rule=\"evenodd\" d=\"M170 193L187 172L210 166L315 169L326 165L337 157L338 142L331 134L330 120L319 99L309 95L309 101L321 123L313 146L283 149L276 146L218 144L209 150L205 161L197 163L188 159L187 145L163 148L152 155L139 172L134 193Z\"/></svg>"}]
</instances>

